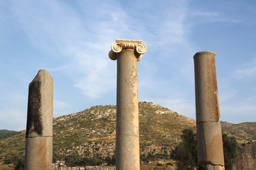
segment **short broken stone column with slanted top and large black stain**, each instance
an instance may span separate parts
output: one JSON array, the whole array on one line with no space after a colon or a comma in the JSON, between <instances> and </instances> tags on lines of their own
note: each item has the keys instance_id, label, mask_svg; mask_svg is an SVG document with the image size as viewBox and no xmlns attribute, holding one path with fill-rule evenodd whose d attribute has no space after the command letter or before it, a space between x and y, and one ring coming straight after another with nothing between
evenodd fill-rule
<instances>
[{"instance_id":1,"label":"short broken stone column with slanted top and large black stain","mask_svg":"<svg viewBox=\"0 0 256 170\"><path fill-rule=\"evenodd\" d=\"M51 170L53 162L53 78L41 69L29 84L26 170Z\"/></svg>"}]
</instances>

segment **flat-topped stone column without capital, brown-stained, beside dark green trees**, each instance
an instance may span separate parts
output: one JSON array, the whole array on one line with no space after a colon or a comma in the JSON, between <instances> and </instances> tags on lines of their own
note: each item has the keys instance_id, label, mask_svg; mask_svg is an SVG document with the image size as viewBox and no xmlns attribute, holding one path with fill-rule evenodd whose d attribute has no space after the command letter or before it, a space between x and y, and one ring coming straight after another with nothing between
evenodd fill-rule
<instances>
[{"instance_id":1,"label":"flat-topped stone column without capital, brown-stained, beside dark green trees","mask_svg":"<svg viewBox=\"0 0 256 170\"><path fill-rule=\"evenodd\" d=\"M199 169L225 169L214 52L194 55Z\"/></svg>"}]
</instances>

